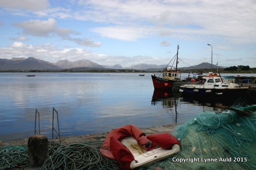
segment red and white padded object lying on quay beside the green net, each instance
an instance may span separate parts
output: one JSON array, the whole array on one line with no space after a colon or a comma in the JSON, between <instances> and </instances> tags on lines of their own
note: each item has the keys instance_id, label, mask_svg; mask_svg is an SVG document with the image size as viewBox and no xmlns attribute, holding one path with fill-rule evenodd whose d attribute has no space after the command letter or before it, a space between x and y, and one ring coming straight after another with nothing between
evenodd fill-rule
<instances>
[{"instance_id":1,"label":"red and white padded object lying on quay beside the green net","mask_svg":"<svg viewBox=\"0 0 256 170\"><path fill-rule=\"evenodd\" d=\"M115 159L123 169L134 169L164 159L180 151L180 143L170 133L146 135L128 124L109 132L100 152Z\"/></svg>"}]
</instances>

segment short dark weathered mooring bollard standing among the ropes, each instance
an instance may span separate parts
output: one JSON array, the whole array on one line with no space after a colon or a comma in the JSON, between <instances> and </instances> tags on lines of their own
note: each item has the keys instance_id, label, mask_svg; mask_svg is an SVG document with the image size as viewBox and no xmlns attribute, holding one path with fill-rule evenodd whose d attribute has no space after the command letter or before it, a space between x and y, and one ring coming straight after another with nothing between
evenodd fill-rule
<instances>
[{"instance_id":1,"label":"short dark weathered mooring bollard standing among the ropes","mask_svg":"<svg viewBox=\"0 0 256 170\"><path fill-rule=\"evenodd\" d=\"M48 139L44 135L33 135L28 139L28 163L31 167L43 166L47 159Z\"/></svg>"}]
</instances>

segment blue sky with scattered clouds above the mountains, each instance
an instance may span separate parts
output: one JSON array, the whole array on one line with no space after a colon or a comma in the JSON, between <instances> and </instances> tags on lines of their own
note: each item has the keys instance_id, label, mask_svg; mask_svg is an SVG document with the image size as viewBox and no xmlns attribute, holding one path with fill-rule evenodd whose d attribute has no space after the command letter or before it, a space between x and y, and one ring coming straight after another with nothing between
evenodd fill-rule
<instances>
[{"instance_id":1,"label":"blue sky with scattered clouds above the mountains","mask_svg":"<svg viewBox=\"0 0 256 170\"><path fill-rule=\"evenodd\" d=\"M256 67L255 0L1 0L0 58ZM207 44L210 44L207 45Z\"/></svg>"}]
</instances>

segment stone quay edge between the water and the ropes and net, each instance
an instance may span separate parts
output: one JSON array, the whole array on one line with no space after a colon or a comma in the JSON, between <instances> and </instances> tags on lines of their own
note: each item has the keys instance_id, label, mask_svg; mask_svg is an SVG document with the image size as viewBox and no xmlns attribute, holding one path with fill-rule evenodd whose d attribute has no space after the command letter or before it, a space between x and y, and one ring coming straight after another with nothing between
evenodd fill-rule
<instances>
[{"instance_id":1,"label":"stone quay edge between the water and the ropes and net","mask_svg":"<svg viewBox=\"0 0 256 170\"><path fill-rule=\"evenodd\" d=\"M149 128L140 128L146 134L153 134L153 133L163 133L168 132L172 133L178 124L168 124L163 126L153 126ZM76 136L67 136L67 137L60 137L61 145L69 145L72 143L83 143L83 142L91 142L91 141L104 141L107 137L109 132L103 133L93 133L93 134L85 134L85 135L76 135ZM43 134L41 134L43 135ZM59 143L59 139L48 139L51 142ZM21 139L13 139L13 140L6 140L0 141L0 147L9 147L9 146L26 146L28 144L28 138L21 138ZM97 146L98 147L98 146Z\"/></svg>"}]
</instances>

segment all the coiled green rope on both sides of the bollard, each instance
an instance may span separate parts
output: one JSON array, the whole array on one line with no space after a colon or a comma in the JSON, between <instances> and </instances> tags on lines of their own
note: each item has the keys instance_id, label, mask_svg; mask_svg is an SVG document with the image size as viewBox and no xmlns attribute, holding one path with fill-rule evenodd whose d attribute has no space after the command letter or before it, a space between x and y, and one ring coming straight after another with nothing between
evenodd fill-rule
<instances>
[{"instance_id":1,"label":"all the coiled green rope on both sides of the bollard","mask_svg":"<svg viewBox=\"0 0 256 170\"><path fill-rule=\"evenodd\" d=\"M65 146L49 142L48 158L41 169L118 169L113 160L102 156L90 146L101 143L92 141ZM0 148L0 158L0 169L29 167L27 146Z\"/></svg>"}]
</instances>

